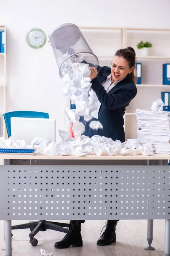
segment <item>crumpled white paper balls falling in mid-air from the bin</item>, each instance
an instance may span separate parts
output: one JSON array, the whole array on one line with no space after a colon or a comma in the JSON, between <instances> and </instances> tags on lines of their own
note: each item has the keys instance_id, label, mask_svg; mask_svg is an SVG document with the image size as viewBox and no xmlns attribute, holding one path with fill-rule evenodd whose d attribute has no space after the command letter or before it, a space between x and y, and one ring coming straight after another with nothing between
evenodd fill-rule
<instances>
[{"instance_id":1,"label":"crumpled white paper balls falling in mid-air from the bin","mask_svg":"<svg viewBox=\"0 0 170 256\"><path fill-rule=\"evenodd\" d=\"M63 55L60 62L63 59L68 58L69 54ZM91 70L88 64L79 63L83 60L84 56L72 56L72 61L66 61L62 67L63 74L63 95L66 98L75 101L76 109L64 110L64 122L68 127L73 124L74 135L80 136L84 131L82 123L78 122L80 116L84 116L85 121L89 121L93 118L92 113L97 110L97 96L93 90L91 90L91 79L89 78ZM91 123L93 129L102 129L102 124L99 122Z\"/></svg>"}]
</instances>

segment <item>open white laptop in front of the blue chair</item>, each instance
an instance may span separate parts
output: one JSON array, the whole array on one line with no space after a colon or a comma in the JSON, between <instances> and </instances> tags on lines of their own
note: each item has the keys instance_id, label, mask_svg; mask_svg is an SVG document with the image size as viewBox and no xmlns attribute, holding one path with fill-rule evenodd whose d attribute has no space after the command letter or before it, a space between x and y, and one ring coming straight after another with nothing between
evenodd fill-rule
<instances>
[{"instance_id":1,"label":"open white laptop in front of the blue chair","mask_svg":"<svg viewBox=\"0 0 170 256\"><path fill-rule=\"evenodd\" d=\"M48 118L11 117L11 137L14 142L25 140L31 145L35 137L56 142L56 120Z\"/></svg>"}]
</instances>

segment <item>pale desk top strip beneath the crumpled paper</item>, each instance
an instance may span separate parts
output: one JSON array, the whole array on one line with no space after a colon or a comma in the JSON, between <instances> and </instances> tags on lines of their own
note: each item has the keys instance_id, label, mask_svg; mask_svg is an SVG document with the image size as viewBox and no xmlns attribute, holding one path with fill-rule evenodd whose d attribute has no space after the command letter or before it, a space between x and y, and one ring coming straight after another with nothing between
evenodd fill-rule
<instances>
[{"instance_id":1,"label":"pale desk top strip beneath the crumpled paper","mask_svg":"<svg viewBox=\"0 0 170 256\"><path fill-rule=\"evenodd\" d=\"M77 156L38 156L33 154L0 154L0 159L29 159L29 160L170 160L170 154L154 154L153 156L97 156L87 155L85 157Z\"/></svg>"}]
</instances>

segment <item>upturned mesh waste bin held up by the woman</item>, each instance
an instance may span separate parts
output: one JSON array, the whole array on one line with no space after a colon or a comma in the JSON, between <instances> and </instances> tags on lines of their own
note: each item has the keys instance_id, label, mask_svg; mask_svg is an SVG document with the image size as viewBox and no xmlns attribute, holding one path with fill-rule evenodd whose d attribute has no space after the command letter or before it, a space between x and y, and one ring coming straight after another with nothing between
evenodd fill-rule
<instances>
[{"instance_id":1,"label":"upturned mesh waste bin held up by the woman","mask_svg":"<svg viewBox=\"0 0 170 256\"><path fill-rule=\"evenodd\" d=\"M78 26L72 23L58 26L51 32L49 41L61 78L64 73L69 72L69 68L74 62L87 63L91 67L97 68L98 58L92 52Z\"/></svg>"}]
</instances>

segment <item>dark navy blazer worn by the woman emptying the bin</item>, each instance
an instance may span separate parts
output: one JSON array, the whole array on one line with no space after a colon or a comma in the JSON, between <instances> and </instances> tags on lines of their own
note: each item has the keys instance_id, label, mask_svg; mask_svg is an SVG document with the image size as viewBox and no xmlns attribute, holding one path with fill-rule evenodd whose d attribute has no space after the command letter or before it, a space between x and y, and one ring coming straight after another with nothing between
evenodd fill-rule
<instances>
[{"instance_id":1,"label":"dark navy blazer worn by the woman emptying the bin","mask_svg":"<svg viewBox=\"0 0 170 256\"><path fill-rule=\"evenodd\" d=\"M128 74L125 79L117 83L108 93L102 86L102 82L111 74L110 67L98 67L98 75L91 81L91 88L97 95L101 106L99 108L98 119L93 118L88 122L81 117L80 121L85 124L84 135L92 137L94 135L105 136L112 140L125 141L125 131L123 128L125 108L136 96L137 88ZM91 121L99 121L103 129L93 130L89 124Z\"/></svg>"}]
</instances>

